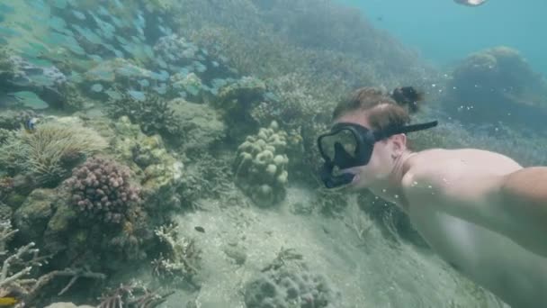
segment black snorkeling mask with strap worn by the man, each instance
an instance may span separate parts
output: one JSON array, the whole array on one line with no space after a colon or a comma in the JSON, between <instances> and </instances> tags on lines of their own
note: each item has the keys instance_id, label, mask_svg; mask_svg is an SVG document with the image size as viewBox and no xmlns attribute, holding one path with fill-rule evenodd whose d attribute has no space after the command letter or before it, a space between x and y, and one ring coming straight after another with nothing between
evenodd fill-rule
<instances>
[{"instance_id":1,"label":"black snorkeling mask with strap worn by the man","mask_svg":"<svg viewBox=\"0 0 547 308\"><path fill-rule=\"evenodd\" d=\"M335 175L337 170L365 166L372 156L374 143L398 133L422 131L435 127L436 121L406 125L397 129L371 131L359 124L350 122L336 123L330 131L318 137L318 149L325 160L320 177L327 188L345 186L354 179L354 174Z\"/></svg>"}]
</instances>

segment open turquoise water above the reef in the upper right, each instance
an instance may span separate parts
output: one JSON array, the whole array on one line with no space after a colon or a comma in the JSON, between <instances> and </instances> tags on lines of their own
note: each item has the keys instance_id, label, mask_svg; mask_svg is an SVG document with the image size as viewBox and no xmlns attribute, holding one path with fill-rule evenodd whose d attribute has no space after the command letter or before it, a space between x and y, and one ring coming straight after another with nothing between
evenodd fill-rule
<instances>
[{"instance_id":1,"label":"open turquoise water above the reef in the upper right","mask_svg":"<svg viewBox=\"0 0 547 308\"><path fill-rule=\"evenodd\" d=\"M376 27L436 64L450 65L473 51L505 45L547 75L545 0L489 0L478 7L453 0L339 1L362 9Z\"/></svg>"}]
</instances>

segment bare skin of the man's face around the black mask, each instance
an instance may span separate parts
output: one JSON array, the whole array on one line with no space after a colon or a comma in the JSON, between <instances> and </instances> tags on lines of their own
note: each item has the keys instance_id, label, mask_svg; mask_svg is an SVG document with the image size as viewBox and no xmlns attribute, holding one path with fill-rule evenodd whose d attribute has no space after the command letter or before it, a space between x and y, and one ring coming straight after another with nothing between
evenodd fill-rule
<instances>
[{"instance_id":1,"label":"bare skin of the man's face around the black mask","mask_svg":"<svg viewBox=\"0 0 547 308\"><path fill-rule=\"evenodd\" d=\"M371 128L366 113L349 113L336 120L336 122L354 122L368 129ZM355 189L370 188L376 183L385 182L395 167L397 158L406 149L406 137L404 134L391 136L387 140L374 143L372 156L365 166L346 169L356 177L350 185Z\"/></svg>"}]
</instances>

